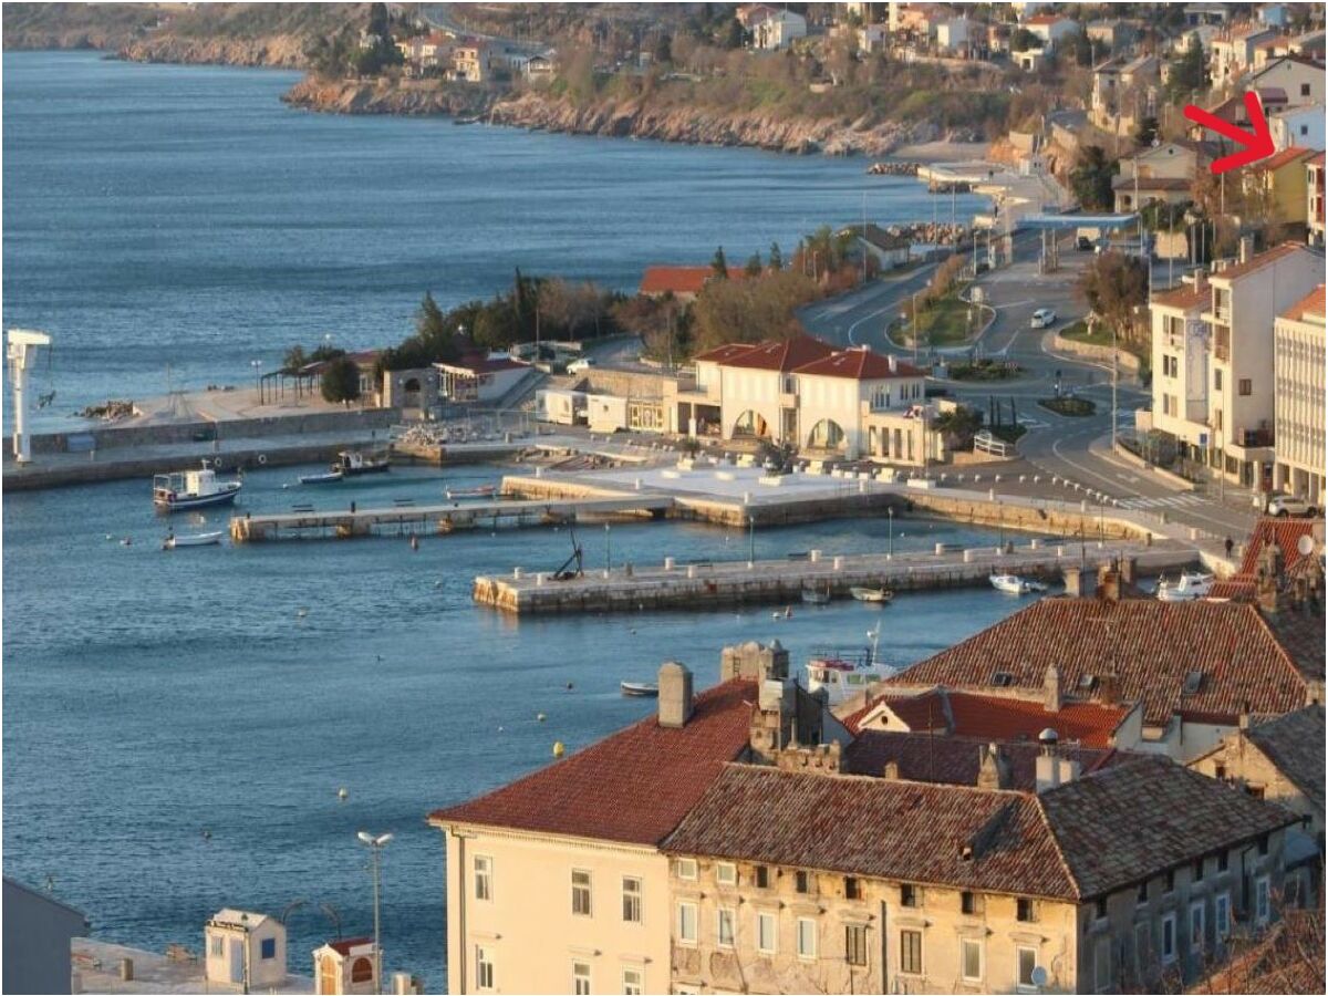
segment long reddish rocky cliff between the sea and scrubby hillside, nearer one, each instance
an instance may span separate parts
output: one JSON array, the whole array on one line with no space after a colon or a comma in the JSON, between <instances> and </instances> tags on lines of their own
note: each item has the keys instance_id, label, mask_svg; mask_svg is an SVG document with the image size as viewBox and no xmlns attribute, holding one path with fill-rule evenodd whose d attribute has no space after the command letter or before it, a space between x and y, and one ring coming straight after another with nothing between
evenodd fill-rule
<instances>
[{"instance_id":1,"label":"long reddish rocky cliff between the sea and scrubby hillside, nearer one","mask_svg":"<svg viewBox=\"0 0 1328 996\"><path fill-rule=\"evenodd\" d=\"M341 114L478 114L495 125L567 134L829 155L887 155L916 142L973 138L968 133L947 133L927 122L845 124L838 118L778 118L760 112L652 108L639 100L600 100L580 106L533 92L505 97L477 88L437 84L412 86L309 77L283 100L292 106Z\"/></svg>"}]
</instances>

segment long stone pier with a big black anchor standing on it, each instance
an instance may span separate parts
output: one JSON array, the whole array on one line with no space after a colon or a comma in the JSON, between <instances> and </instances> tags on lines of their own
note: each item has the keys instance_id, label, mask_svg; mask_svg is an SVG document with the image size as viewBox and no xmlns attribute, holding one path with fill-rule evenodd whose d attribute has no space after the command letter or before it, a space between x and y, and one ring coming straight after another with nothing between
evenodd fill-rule
<instances>
[{"instance_id":1,"label":"long stone pier with a big black anchor standing on it","mask_svg":"<svg viewBox=\"0 0 1328 996\"><path fill-rule=\"evenodd\" d=\"M1166 542L1116 542L1100 546L1037 544L1004 551L995 546L934 552L861 554L805 559L676 563L628 566L622 570L587 571L571 580L552 575L514 571L507 576L475 578L473 595L482 606L505 612L615 612L645 608L728 608L740 604L801 607L802 591L830 590L849 598L855 586L884 586L895 591L988 586L993 572L1060 580L1066 567L1097 567L1112 558L1135 558L1138 570L1155 572L1189 566L1198 559L1193 548ZM888 610L887 610L888 611Z\"/></svg>"}]
</instances>

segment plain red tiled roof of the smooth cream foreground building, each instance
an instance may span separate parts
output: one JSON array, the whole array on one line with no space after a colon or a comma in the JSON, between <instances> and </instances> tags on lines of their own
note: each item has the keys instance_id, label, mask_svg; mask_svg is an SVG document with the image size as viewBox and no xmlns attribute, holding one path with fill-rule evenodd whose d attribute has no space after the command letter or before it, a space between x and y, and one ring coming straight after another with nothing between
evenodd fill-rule
<instances>
[{"instance_id":1,"label":"plain red tiled roof of the smooth cream foreground building","mask_svg":"<svg viewBox=\"0 0 1328 996\"><path fill-rule=\"evenodd\" d=\"M696 697L683 729L649 716L501 789L436 810L429 821L659 843L724 762L746 749L756 696L756 683L726 681Z\"/></svg>"}]
</instances>

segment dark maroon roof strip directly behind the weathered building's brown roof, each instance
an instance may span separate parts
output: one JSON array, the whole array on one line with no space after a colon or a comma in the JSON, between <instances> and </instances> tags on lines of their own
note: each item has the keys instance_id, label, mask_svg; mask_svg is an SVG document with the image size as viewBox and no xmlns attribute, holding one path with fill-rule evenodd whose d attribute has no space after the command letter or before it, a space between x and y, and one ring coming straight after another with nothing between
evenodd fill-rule
<instances>
[{"instance_id":1,"label":"dark maroon roof strip directly behind the weathered building's brown roof","mask_svg":"<svg viewBox=\"0 0 1328 996\"><path fill-rule=\"evenodd\" d=\"M849 774L880 778L886 764L898 765L899 778L912 782L942 785L977 785L981 750L991 742L984 737L932 736L930 733L896 733L894 730L863 730L843 750L841 768ZM1037 784L1037 744L1003 744L1001 750L1011 762L1011 786L1032 791ZM1077 760L1082 770L1094 772L1133 757L1123 750L1066 748L1061 753Z\"/></svg>"}]
</instances>

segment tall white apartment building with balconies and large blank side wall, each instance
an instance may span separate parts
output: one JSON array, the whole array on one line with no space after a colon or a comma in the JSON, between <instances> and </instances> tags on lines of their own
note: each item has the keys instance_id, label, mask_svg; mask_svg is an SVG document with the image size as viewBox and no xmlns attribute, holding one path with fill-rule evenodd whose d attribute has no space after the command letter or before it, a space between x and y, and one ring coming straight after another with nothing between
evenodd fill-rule
<instances>
[{"instance_id":1,"label":"tall white apartment building with balconies and large blank side wall","mask_svg":"<svg viewBox=\"0 0 1328 996\"><path fill-rule=\"evenodd\" d=\"M1210 466L1247 487L1271 487L1275 449L1274 320L1323 282L1324 258L1287 242L1208 276L1202 319L1211 341Z\"/></svg>"}]
</instances>

